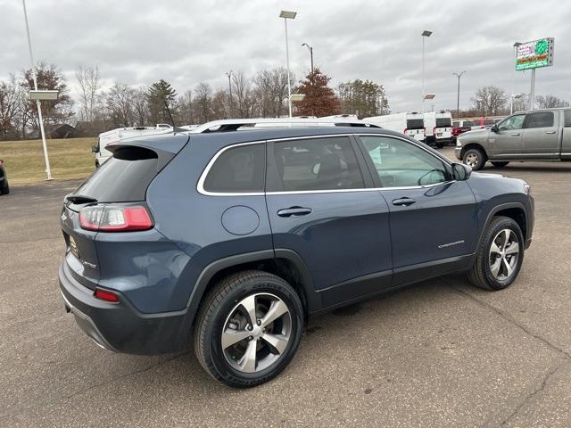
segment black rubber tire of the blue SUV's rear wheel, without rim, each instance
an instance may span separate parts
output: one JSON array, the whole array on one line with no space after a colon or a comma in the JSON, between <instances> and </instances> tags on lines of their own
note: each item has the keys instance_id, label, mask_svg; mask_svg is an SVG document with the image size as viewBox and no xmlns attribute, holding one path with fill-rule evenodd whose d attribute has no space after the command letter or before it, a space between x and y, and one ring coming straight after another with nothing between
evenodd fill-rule
<instances>
[{"instance_id":1,"label":"black rubber tire of the blue SUV's rear wheel, without rim","mask_svg":"<svg viewBox=\"0 0 571 428\"><path fill-rule=\"evenodd\" d=\"M285 345L285 350L278 356L273 356L270 355L269 345L260 338L260 345L258 343L254 345L256 358L259 352L256 347L265 346L269 358L277 359L267 367L259 370L256 367L258 371L254 373L244 373L244 371L236 368L240 362L237 358L234 359L235 366L228 362L228 355L222 349L222 333L227 322L234 319L229 319L229 317L236 314L236 308L240 307L239 304L242 300L252 297L252 295L261 296L257 298L256 301L258 302L263 299L263 296L271 295L285 303L289 311L287 318L289 339ZM256 310L256 317L258 317L257 313ZM244 319L248 318L244 317ZM256 326L255 328L259 327ZM284 370L285 366L294 358L300 343L302 328L302 302L290 284L267 272L257 270L239 272L222 279L203 299L194 325L194 352L200 364L214 379L235 388L249 388L268 382ZM236 328L236 331L238 330ZM272 331L272 333L274 332ZM253 340L258 341L258 339ZM252 336L228 347L227 350L233 351L236 346L247 349L248 343L251 341Z\"/></svg>"}]
</instances>

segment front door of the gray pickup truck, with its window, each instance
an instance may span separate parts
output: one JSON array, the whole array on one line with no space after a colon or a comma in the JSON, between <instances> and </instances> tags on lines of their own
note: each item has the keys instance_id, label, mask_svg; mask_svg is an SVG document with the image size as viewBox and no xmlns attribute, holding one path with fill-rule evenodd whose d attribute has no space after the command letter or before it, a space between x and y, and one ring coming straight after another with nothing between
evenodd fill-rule
<instances>
[{"instance_id":1,"label":"front door of the gray pickup truck, with its window","mask_svg":"<svg viewBox=\"0 0 571 428\"><path fill-rule=\"evenodd\" d=\"M496 132L488 133L488 156L492 159L517 159L523 153L522 132L525 114L502 120Z\"/></svg>"}]
</instances>

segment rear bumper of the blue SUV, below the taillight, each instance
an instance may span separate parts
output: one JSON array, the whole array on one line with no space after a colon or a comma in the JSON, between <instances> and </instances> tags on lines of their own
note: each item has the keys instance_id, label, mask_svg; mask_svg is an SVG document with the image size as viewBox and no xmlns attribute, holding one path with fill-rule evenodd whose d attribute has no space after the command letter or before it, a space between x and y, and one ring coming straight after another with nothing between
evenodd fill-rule
<instances>
[{"instance_id":1,"label":"rear bumper of the blue SUV, below the taillight","mask_svg":"<svg viewBox=\"0 0 571 428\"><path fill-rule=\"evenodd\" d=\"M95 299L92 290L70 275L65 263L59 282L65 306L79 328L106 350L155 355L183 350L190 338L193 317L188 310L143 314L122 295L118 304Z\"/></svg>"}]
</instances>

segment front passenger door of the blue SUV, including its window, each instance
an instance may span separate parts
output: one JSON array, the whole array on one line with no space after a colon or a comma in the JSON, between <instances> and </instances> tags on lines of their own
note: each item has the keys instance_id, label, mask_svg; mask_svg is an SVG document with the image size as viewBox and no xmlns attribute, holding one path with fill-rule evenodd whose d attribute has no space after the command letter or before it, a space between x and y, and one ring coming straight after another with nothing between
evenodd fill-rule
<instances>
[{"instance_id":1,"label":"front passenger door of the blue SUV, including its window","mask_svg":"<svg viewBox=\"0 0 571 428\"><path fill-rule=\"evenodd\" d=\"M469 266L476 198L432 152L394 136L360 136L391 213L394 285Z\"/></svg>"}]
</instances>

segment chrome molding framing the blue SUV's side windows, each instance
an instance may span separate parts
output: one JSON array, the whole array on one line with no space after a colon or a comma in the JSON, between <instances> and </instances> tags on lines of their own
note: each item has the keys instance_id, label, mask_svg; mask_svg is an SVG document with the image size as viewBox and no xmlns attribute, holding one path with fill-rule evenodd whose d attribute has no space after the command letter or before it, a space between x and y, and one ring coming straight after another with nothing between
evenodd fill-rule
<instances>
[{"instance_id":1,"label":"chrome molding framing the blue SUV's side windows","mask_svg":"<svg viewBox=\"0 0 571 428\"><path fill-rule=\"evenodd\" d=\"M380 128L379 128L380 129ZM395 138L404 141L405 143L412 144L419 149L425 151L426 153L430 154L434 158L438 159L439 161L443 161L446 165L451 167L451 162L448 159L445 159L440 156L434 155L433 152L426 150L422 147L421 144L417 141L411 142L406 138L402 138L401 136L393 136L392 134L383 134L379 133L367 133L367 134L360 134L359 132L355 132L353 134L327 134L327 135L320 135L320 136L294 136L294 137L284 137L284 138L274 138L270 140L259 140L259 141L252 141L248 143L238 143L238 144L230 144L226 147L222 147L216 154L212 157L211 161L208 162L206 168L204 168L203 173L201 174L200 178L198 179L198 184L196 185L196 190L198 193L201 193L206 196L264 196L264 195L279 195L279 194L312 194L312 193L352 193L352 192L378 192L379 190L408 190L408 189L424 189L430 188L437 185L445 185L451 184L456 182L456 180L447 180L440 183L434 183L432 185L407 185L407 186L394 186L394 187L362 187L357 189L329 189L329 190L294 190L294 191L279 191L279 192L209 192L208 190L204 189L204 181L208 176L208 173L211 170L212 165L216 162L219 156L226 152L227 150L234 149L236 147L241 147L244 145L252 145L252 144L265 144L265 143L282 143L285 141L295 141L295 140L308 140L313 138L327 138L327 137L343 137L343 136L385 136L389 138Z\"/></svg>"}]
</instances>

